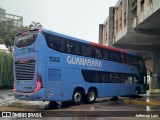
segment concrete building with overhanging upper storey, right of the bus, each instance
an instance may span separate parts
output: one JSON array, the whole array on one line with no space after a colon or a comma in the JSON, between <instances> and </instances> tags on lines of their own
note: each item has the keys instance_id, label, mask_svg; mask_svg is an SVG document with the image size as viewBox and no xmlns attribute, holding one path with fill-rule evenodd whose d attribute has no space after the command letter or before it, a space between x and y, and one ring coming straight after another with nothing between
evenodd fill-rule
<instances>
[{"instance_id":1,"label":"concrete building with overhanging upper storey, right of the bus","mask_svg":"<svg viewBox=\"0 0 160 120\"><path fill-rule=\"evenodd\" d=\"M140 53L148 75L160 75L160 0L119 0L99 25L99 43ZM159 80L160 81L160 80Z\"/></svg>"}]
</instances>

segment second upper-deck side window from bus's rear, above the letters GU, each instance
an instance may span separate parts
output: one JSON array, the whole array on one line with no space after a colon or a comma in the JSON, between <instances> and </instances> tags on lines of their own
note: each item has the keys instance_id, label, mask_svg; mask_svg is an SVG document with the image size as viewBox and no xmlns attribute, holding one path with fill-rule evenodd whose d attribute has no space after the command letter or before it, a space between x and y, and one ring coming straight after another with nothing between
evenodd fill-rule
<instances>
[{"instance_id":1,"label":"second upper-deck side window from bus's rear, above the letters GU","mask_svg":"<svg viewBox=\"0 0 160 120\"><path fill-rule=\"evenodd\" d=\"M76 41L66 41L66 52L69 54L79 55L79 43Z\"/></svg>"}]
</instances>

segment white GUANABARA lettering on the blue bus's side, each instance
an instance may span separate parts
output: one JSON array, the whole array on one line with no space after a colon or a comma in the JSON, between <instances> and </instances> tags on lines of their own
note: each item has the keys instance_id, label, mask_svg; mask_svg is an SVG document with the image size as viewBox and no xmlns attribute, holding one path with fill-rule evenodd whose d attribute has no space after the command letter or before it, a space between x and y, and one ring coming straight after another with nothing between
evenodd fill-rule
<instances>
[{"instance_id":1,"label":"white GUANABARA lettering on the blue bus's side","mask_svg":"<svg viewBox=\"0 0 160 120\"><path fill-rule=\"evenodd\" d=\"M89 67L102 67L102 62L100 60L95 60L95 59L68 56L67 62L69 64L75 64L75 65L84 65Z\"/></svg>"}]
</instances>

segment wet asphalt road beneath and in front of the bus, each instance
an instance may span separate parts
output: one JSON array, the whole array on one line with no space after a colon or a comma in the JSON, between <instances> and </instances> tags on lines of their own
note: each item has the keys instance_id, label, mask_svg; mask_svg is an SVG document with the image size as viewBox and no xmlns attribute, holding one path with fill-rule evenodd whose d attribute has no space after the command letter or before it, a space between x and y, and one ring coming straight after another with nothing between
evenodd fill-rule
<instances>
[{"instance_id":1,"label":"wet asphalt road beneath and in front of the bus","mask_svg":"<svg viewBox=\"0 0 160 120\"><path fill-rule=\"evenodd\" d=\"M140 98L97 99L94 104L72 105L70 102L53 103L42 101L19 101L14 99L12 91L1 91L0 111L38 112L43 118L56 120L105 120L105 119L160 119L160 95ZM5 101L5 102L4 102ZM1 104L1 103L4 104ZM0 118L6 120L6 118ZM23 119L23 118L7 118ZM25 118L31 120L32 118ZM35 119L34 119L35 120Z\"/></svg>"}]
</instances>

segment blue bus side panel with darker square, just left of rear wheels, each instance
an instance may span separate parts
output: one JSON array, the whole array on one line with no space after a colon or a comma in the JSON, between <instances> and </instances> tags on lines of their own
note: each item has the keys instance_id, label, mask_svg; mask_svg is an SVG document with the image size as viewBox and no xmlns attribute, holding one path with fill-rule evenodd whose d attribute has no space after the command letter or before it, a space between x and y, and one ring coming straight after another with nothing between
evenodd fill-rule
<instances>
[{"instance_id":1,"label":"blue bus side panel with darker square, just left of rear wheels","mask_svg":"<svg viewBox=\"0 0 160 120\"><path fill-rule=\"evenodd\" d=\"M46 81L46 98L49 101L61 100L62 69L48 68Z\"/></svg>"}]
</instances>

